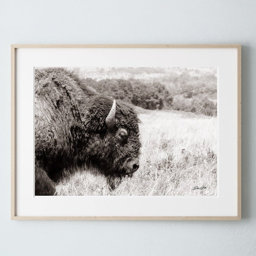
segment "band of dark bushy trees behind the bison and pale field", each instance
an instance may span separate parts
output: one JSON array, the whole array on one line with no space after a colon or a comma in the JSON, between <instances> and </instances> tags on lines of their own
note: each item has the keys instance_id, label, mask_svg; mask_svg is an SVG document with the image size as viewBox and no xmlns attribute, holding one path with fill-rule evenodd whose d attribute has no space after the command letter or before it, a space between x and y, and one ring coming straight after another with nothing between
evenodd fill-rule
<instances>
[{"instance_id":1,"label":"band of dark bushy trees behind the bison and pale field","mask_svg":"<svg viewBox=\"0 0 256 256\"><path fill-rule=\"evenodd\" d=\"M80 79L80 83L82 86L93 88L98 93L104 93L114 99L122 99L145 109L174 109L216 116L217 104L215 100L210 99L210 96L217 91L215 79L213 76L189 79L183 75L178 78L176 76L168 83L138 79L96 81L91 78Z\"/></svg>"}]
</instances>

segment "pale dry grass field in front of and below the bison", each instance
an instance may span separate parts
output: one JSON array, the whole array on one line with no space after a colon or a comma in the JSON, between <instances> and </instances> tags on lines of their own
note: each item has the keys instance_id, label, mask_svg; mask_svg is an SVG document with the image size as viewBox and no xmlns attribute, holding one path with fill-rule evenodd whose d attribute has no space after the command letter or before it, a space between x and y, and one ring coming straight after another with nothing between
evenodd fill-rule
<instances>
[{"instance_id":1,"label":"pale dry grass field in front of and below the bison","mask_svg":"<svg viewBox=\"0 0 256 256\"><path fill-rule=\"evenodd\" d=\"M217 118L142 108L139 113L142 154L133 177L111 191L95 170L79 170L58 184L58 195L217 195Z\"/></svg>"}]
</instances>

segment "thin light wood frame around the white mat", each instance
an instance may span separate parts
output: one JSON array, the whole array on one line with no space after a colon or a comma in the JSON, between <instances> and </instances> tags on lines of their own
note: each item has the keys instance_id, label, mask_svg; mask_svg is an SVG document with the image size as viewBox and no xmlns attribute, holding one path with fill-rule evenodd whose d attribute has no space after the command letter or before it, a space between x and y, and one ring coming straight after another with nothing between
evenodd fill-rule
<instances>
[{"instance_id":1,"label":"thin light wood frame around the white mat","mask_svg":"<svg viewBox=\"0 0 256 256\"><path fill-rule=\"evenodd\" d=\"M15 49L17 48L236 48L238 70L237 216L17 216L15 215ZM241 44L11 44L11 220L241 220Z\"/></svg>"}]
</instances>

